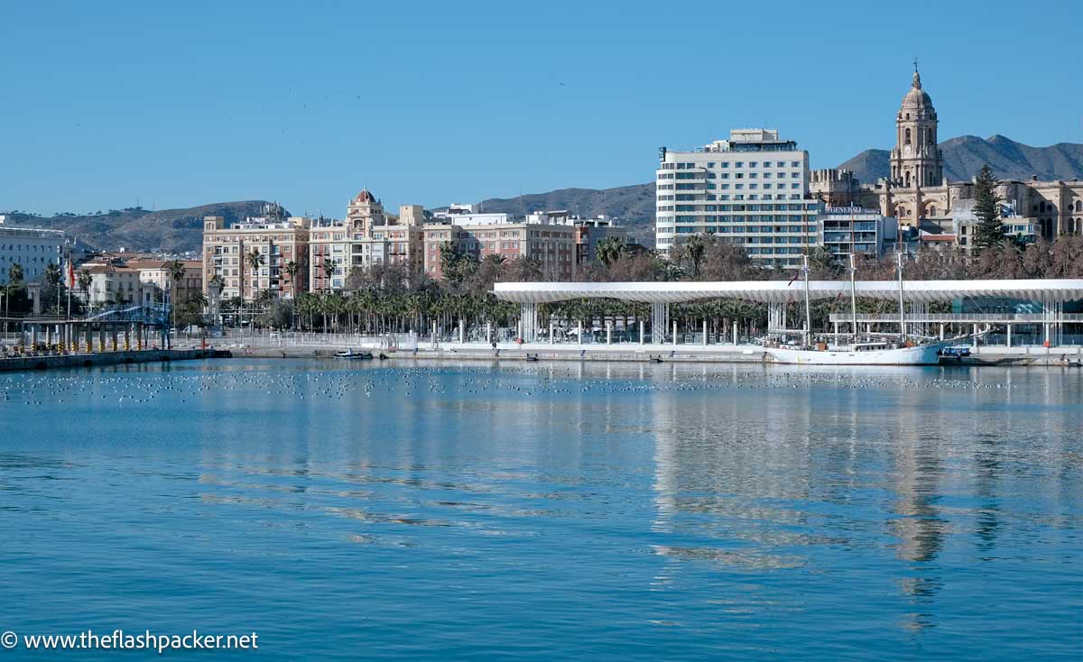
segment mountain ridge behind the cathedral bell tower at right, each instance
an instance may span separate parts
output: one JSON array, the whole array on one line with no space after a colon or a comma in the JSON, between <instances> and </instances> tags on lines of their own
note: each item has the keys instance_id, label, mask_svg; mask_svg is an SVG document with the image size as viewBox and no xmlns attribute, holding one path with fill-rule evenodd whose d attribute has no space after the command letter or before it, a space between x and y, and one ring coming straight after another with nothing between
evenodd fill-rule
<instances>
[{"instance_id":1,"label":"mountain ridge behind the cathedral bell tower at right","mask_svg":"<svg viewBox=\"0 0 1083 662\"><path fill-rule=\"evenodd\" d=\"M1081 180L1083 178L1083 145L1058 143L1048 147L1031 147L1003 135L980 138L962 135L940 143L944 157L944 175L951 181L965 181L989 164L1002 180ZM890 173L886 149L865 149L838 168L852 170L864 184L872 184Z\"/></svg>"}]
</instances>

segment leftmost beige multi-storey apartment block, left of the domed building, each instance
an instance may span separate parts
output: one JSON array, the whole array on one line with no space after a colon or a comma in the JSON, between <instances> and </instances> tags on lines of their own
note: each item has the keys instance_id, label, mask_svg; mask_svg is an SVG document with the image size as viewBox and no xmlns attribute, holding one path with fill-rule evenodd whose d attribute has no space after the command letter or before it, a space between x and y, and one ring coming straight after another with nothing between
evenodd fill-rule
<instances>
[{"instance_id":1,"label":"leftmost beige multi-storey apartment block, left of the domed building","mask_svg":"<svg viewBox=\"0 0 1083 662\"><path fill-rule=\"evenodd\" d=\"M264 216L249 217L231 226L225 225L222 216L204 219L203 288L208 296L214 276L223 280L221 299L243 296L252 301L264 290L280 299L291 299L295 293L309 290L312 221L304 216L286 219L279 210L269 209ZM263 257L256 269L246 260L252 251ZM293 277L289 274L290 263L297 265Z\"/></svg>"}]
</instances>

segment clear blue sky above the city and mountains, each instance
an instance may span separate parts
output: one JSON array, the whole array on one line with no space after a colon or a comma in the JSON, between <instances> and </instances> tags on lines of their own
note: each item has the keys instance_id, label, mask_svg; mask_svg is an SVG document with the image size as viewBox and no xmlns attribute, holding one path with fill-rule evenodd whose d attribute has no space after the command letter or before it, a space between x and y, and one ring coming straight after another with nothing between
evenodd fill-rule
<instances>
[{"instance_id":1,"label":"clear blue sky above the city and mountains","mask_svg":"<svg viewBox=\"0 0 1083 662\"><path fill-rule=\"evenodd\" d=\"M1083 143L1083 2L0 0L0 210L253 198L341 216L650 181L767 124L889 147L916 56L940 136ZM561 84L563 83L563 84Z\"/></svg>"}]
</instances>

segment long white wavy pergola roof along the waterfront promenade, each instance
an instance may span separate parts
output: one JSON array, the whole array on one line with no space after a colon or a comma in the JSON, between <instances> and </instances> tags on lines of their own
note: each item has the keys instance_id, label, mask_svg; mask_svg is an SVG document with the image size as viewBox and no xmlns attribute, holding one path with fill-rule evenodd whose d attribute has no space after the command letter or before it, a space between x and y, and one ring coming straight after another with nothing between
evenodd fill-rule
<instances>
[{"instance_id":1,"label":"long white wavy pergola roof along the waterfront promenade","mask_svg":"<svg viewBox=\"0 0 1083 662\"><path fill-rule=\"evenodd\" d=\"M1026 280L912 280L903 283L909 302L999 296L1027 301L1083 300L1083 278ZM501 301L551 303L570 299L619 299L642 303L681 303L703 299L742 299L786 303L805 297L800 280L747 280L732 282L498 282L493 293ZM849 280L813 280L811 299L849 296ZM899 299L897 280L859 280L860 299Z\"/></svg>"}]
</instances>

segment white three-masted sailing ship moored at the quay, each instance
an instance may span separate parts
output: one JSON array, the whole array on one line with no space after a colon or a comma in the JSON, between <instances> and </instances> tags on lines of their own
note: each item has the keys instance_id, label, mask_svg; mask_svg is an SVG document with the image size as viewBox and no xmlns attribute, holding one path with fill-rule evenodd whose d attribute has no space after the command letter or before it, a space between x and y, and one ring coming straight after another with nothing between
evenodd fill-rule
<instances>
[{"instance_id":1,"label":"white three-masted sailing ship moored at the quay","mask_svg":"<svg viewBox=\"0 0 1083 662\"><path fill-rule=\"evenodd\" d=\"M812 314L809 301L809 260L805 256L801 267L805 277L805 343L803 346L766 344L764 350L770 361L795 366L936 366L945 347L958 342L958 339L939 342L924 342L924 339L906 337L906 312L902 296L902 253L899 260L899 327L901 333L898 341L861 340L858 329L858 297L853 254L850 254L850 310L854 332L849 344L830 345L827 343L810 342L809 330L812 328ZM837 339L836 339L837 340Z\"/></svg>"}]
</instances>

